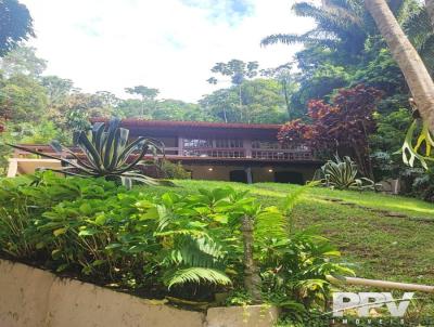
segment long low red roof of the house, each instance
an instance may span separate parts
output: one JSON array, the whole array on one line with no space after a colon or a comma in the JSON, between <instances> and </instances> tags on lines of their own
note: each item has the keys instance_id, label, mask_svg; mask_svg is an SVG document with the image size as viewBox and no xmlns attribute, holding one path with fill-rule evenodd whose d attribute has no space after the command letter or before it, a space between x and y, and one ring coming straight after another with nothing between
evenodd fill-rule
<instances>
[{"instance_id":1,"label":"long low red roof of the house","mask_svg":"<svg viewBox=\"0 0 434 327\"><path fill-rule=\"evenodd\" d=\"M92 121L108 121L106 118L94 118ZM219 128L219 129L250 129L250 130L279 130L277 123L239 123L239 122L208 122L208 121L174 121L174 120L144 120L137 118L123 119L123 127L156 127L156 128Z\"/></svg>"}]
</instances>

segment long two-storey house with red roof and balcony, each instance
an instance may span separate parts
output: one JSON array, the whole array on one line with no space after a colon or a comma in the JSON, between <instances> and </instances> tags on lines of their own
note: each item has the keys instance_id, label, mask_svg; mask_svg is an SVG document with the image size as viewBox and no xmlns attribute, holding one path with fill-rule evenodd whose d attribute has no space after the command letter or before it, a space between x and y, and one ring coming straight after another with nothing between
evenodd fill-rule
<instances>
[{"instance_id":1,"label":"long two-storey house with red roof and balcony","mask_svg":"<svg viewBox=\"0 0 434 327\"><path fill-rule=\"evenodd\" d=\"M196 180L304 184L321 165L309 147L280 144L280 125L124 119L122 127L129 129L131 140L149 136L162 141L166 159L181 162ZM52 153L47 145L31 147ZM20 156L23 154L15 154ZM14 171L24 168L17 165Z\"/></svg>"}]
</instances>

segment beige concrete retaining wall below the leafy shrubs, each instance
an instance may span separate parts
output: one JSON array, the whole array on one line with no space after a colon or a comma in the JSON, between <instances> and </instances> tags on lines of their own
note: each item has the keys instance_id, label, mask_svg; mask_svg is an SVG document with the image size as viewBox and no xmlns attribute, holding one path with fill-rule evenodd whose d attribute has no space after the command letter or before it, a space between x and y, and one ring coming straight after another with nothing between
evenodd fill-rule
<instances>
[{"instance_id":1,"label":"beige concrete retaining wall below the leafy shrubs","mask_svg":"<svg viewBox=\"0 0 434 327\"><path fill-rule=\"evenodd\" d=\"M184 311L0 260L0 326L271 327L275 308Z\"/></svg>"}]
</instances>

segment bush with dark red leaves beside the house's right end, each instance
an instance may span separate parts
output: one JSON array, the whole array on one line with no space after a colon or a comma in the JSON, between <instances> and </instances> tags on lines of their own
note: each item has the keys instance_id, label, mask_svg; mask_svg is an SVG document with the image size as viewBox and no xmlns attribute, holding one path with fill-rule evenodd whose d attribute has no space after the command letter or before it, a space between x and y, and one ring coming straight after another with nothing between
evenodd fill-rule
<instances>
[{"instance_id":1,"label":"bush with dark red leaves beside the house's right end","mask_svg":"<svg viewBox=\"0 0 434 327\"><path fill-rule=\"evenodd\" d=\"M286 144L308 143L320 153L350 155L361 171L372 176L368 138L375 131L372 114L381 95L381 91L359 84L341 89L331 104L311 100L308 104L311 123L290 121L281 128L278 139Z\"/></svg>"}]
</instances>

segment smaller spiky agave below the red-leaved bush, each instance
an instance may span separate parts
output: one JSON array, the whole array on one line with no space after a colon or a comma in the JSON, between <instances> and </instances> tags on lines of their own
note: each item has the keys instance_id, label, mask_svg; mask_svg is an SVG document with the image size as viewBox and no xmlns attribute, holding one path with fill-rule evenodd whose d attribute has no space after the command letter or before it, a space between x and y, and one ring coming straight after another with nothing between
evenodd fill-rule
<instances>
[{"instance_id":1,"label":"smaller spiky agave below the red-leaved bush","mask_svg":"<svg viewBox=\"0 0 434 327\"><path fill-rule=\"evenodd\" d=\"M348 156L341 159L337 155L335 160L329 160L316 173L315 179L322 186L337 189L371 189L375 191L379 184L367 178L357 178L358 169L355 161Z\"/></svg>"}]
</instances>

